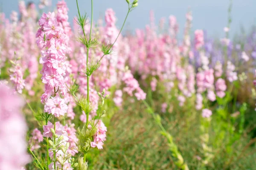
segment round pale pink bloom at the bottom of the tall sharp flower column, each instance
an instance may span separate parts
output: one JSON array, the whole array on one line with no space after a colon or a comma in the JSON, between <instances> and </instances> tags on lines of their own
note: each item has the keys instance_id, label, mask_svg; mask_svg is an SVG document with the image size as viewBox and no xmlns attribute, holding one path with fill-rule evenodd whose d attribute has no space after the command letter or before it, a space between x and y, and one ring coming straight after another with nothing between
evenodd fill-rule
<instances>
[{"instance_id":1,"label":"round pale pink bloom at the bottom of the tall sharp flower column","mask_svg":"<svg viewBox=\"0 0 256 170\"><path fill-rule=\"evenodd\" d=\"M67 113L67 109L64 99L61 99L58 95L47 99L44 105L44 111L53 114L55 117L64 116Z\"/></svg>"}]
</instances>

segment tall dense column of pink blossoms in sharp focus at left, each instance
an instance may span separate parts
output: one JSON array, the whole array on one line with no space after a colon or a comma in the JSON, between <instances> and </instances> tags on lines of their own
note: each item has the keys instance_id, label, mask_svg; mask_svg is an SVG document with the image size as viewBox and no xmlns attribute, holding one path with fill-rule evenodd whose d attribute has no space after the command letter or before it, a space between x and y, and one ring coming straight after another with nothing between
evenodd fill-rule
<instances>
[{"instance_id":1,"label":"tall dense column of pink blossoms in sharp focus at left","mask_svg":"<svg viewBox=\"0 0 256 170\"><path fill-rule=\"evenodd\" d=\"M45 84L45 92L41 97L41 102L47 102L47 100L50 100L47 103L52 103L54 105L63 104L64 101L61 102L63 99L60 97L57 96L58 99L55 99L57 103L53 103L55 101L49 99L49 97L53 93L56 94L57 91L61 91L61 94L64 96L67 93L66 85L64 83L66 70L65 54L67 52L65 44L66 36L63 32L63 28L58 26L54 13L44 13L38 23L41 28L38 29L36 34L36 37L38 38L37 43L39 47L44 49L41 52L42 57L40 58L40 63L43 64L41 79ZM58 108L59 105L56 107ZM61 109L61 111L66 110ZM63 112L58 112L55 116L60 115L63 115Z\"/></svg>"}]
</instances>

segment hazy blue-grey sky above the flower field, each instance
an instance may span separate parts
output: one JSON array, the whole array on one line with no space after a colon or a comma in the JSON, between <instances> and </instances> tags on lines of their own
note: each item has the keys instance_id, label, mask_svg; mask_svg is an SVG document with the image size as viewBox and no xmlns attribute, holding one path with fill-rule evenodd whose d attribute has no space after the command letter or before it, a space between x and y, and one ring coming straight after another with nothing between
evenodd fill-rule
<instances>
[{"instance_id":1,"label":"hazy blue-grey sky above the flower field","mask_svg":"<svg viewBox=\"0 0 256 170\"><path fill-rule=\"evenodd\" d=\"M25 0L25 2L38 4L40 0ZM58 0L52 0L50 10L55 8ZM132 1L132 0L131 0ZM9 17L11 11L18 11L18 0L0 0L0 8ZM76 0L66 0L69 8L69 20L77 14ZM81 13L86 12L90 17L90 0L78 0ZM228 6L230 0L139 0L139 6L128 16L125 29L135 30L145 28L149 24L150 11L154 11L155 22L165 17L166 22L170 15L175 15L179 24L179 36L183 34L185 15L190 7L192 10L192 31L204 29L210 37L223 37L223 28L227 26ZM128 10L125 0L94 0L94 18L104 17L105 10L113 8L116 12L117 27L121 28ZM49 10L49 9L48 9ZM233 0L231 11L232 23L230 35L239 33L241 26L249 31L256 25L256 0Z\"/></svg>"}]
</instances>

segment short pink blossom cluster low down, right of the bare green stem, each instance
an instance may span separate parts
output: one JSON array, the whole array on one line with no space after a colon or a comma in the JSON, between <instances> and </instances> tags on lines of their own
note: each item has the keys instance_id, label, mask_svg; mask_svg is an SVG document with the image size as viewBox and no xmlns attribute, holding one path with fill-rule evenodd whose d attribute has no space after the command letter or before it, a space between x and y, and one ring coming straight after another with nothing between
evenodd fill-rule
<instances>
[{"instance_id":1,"label":"short pink blossom cluster low down, right of the bare green stem","mask_svg":"<svg viewBox=\"0 0 256 170\"><path fill-rule=\"evenodd\" d=\"M99 120L96 124L96 134L93 136L93 142L91 142L91 147L97 147L98 149L103 149L104 141L106 140L107 127L104 125L102 120Z\"/></svg>"}]
</instances>

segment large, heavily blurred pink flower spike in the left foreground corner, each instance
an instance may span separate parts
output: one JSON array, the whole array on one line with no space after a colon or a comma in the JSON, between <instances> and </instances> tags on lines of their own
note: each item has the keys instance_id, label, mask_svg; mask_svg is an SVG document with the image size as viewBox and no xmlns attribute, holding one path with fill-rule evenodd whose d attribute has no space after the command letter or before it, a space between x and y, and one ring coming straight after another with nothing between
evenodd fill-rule
<instances>
[{"instance_id":1,"label":"large, heavily blurred pink flower spike in the left foreground corner","mask_svg":"<svg viewBox=\"0 0 256 170\"><path fill-rule=\"evenodd\" d=\"M0 83L0 169L20 170L30 161L26 153L26 122L20 112L24 102Z\"/></svg>"}]
</instances>

